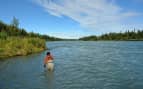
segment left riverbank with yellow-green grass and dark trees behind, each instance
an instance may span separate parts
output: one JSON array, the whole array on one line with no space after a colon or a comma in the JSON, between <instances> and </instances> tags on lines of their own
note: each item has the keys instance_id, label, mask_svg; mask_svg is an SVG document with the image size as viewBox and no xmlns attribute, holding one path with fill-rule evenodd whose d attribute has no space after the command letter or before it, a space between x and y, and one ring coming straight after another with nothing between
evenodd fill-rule
<instances>
[{"instance_id":1,"label":"left riverbank with yellow-green grass and dark trees behind","mask_svg":"<svg viewBox=\"0 0 143 89\"><path fill-rule=\"evenodd\" d=\"M15 17L11 24L0 21L0 59L40 52L47 49L46 41L61 40L48 35L27 32L18 25L19 21Z\"/></svg>"}]
</instances>

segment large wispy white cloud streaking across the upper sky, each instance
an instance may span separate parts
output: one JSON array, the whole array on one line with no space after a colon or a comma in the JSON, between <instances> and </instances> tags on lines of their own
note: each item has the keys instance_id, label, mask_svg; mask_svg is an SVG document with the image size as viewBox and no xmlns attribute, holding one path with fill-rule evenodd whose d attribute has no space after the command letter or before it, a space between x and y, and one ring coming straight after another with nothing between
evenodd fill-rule
<instances>
[{"instance_id":1,"label":"large wispy white cloud streaking across the upper sky","mask_svg":"<svg viewBox=\"0 0 143 89\"><path fill-rule=\"evenodd\" d=\"M123 12L115 0L37 0L51 15L67 16L82 27L96 30L114 31L121 28L122 20L140 15L136 12ZM102 29L103 28L103 29Z\"/></svg>"}]
</instances>

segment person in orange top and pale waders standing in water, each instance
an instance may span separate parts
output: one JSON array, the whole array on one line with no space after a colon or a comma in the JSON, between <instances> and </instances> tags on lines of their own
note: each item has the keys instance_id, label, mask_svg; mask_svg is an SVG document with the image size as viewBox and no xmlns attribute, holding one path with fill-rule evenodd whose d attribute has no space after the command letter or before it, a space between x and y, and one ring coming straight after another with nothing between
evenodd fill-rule
<instances>
[{"instance_id":1,"label":"person in orange top and pale waders standing in water","mask_svg":"<svg viewBox=\"0 0 143 89\"><path fill-rule=\"evenodd\" d=\"M50 54L50 52L47 52L47 55L44 59L44 67L48 70L53 70L54 68L53 56Z\"/></svg>"}]
</instances>

